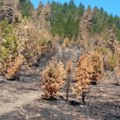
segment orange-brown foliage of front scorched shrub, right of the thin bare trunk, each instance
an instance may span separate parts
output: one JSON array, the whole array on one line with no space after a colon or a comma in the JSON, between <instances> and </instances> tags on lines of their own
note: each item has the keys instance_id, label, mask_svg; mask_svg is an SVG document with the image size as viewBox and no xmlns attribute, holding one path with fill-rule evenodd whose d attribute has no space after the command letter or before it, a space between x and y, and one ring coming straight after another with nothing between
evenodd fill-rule
<instances>
[{"instance_id":1,"label":"orange-brown foliage of front scorched shrub, right of the thin bare trunk","mask_svg":"<svg viewBox=\"0 0 120 120\"><path fill-rule=\"evenodd\" d=\"M73 87L73 92L77 98L80 98L82 93L87 90L88 85L90 84L90 80L94 71L91 62L92 61L89 55L81 56L78 62L74 76L76 83Z\"/></svg>"}]
</instances>

